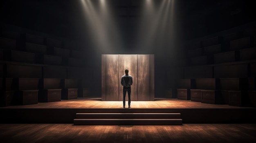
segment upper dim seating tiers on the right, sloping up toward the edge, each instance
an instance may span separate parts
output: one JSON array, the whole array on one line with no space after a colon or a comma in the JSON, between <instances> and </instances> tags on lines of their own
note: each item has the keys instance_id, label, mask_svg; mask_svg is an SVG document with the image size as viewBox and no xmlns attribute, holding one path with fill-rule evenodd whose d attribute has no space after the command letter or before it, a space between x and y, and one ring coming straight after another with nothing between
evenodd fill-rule
<instances>
[{"instance_id":1,"label":"upper dim seating tiers on the right, sloping up toward the edge","mask_svg":"<svg viewBox=\"0 0 256 143\"><path fill-rule=\"evenodd\" d=\"M241 33L231 33L192 42L188 45L190 49L186 51L186 64L173 66L198 66L256 59L254 34L244 31L244 37L239 36Z\"/></svg>"}]
</instances>

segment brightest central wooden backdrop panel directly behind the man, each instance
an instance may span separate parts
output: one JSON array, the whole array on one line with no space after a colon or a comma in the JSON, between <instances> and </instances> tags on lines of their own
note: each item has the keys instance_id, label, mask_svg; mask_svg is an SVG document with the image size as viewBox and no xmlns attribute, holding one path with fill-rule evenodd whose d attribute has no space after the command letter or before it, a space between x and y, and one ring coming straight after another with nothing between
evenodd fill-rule
<instances>
[{"instance_id":1,"label":"brightest central wooden backdrop panel directly behind the man","mask_svg":"<svg viewBox=\"0 0 256 143\"><path fill-rule=\"evenodd\" d=\"M137 101L137 55L119 55L119 101L123 101L123 86L121 86L121 76L125 75L124 70L128 68L129 75L132 76L131 101ZM126 93L128 101L128 93Z\"/></svg>"}]
</instances>

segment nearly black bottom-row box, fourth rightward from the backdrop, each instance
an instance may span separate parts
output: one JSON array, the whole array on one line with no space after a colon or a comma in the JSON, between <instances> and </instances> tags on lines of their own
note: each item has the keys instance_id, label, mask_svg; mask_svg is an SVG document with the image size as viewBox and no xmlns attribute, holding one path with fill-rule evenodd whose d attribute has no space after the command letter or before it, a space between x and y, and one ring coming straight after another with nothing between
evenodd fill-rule
<instances>
[{"instance_id":1,"label":"nearly black bottom-row box, fourth rightward from the backdrop","mask_svg":"<svg viewBox=\"0 0 256 143\"><path fill-rule=\"evenodd\" d=\"M246 91L229 90L229 106L246 106L249 97Z\"/></svg>"}]
</instances>

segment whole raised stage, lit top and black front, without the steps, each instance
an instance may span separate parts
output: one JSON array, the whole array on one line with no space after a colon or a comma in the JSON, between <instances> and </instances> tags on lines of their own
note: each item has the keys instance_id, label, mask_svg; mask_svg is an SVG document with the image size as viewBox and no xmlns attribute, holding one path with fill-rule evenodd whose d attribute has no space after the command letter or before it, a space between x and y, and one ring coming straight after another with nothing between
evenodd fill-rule
<instances>
[{"instance_id":1,"label":"whole raised stage, lit top and black front, without the steps","mask_svg":"<svg viewBox=\"0 0 256 143\"><path fill-rule=\"evenodd\" d=\"M256 108L216 105L188 100L156 98L132 101L78 98L0 108L1 123L74 123L76 113L180 113L182 123L256 123Z\"/></svg>"}]
</instances>

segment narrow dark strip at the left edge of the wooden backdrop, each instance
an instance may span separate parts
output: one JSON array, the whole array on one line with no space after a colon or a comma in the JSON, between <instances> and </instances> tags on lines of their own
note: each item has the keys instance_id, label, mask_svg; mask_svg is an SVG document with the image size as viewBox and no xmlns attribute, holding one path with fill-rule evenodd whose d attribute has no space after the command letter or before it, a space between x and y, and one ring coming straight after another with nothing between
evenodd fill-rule
<instances>
[{"instance_id":1,"label":"narrow dark strip at the left edge of the wooden backdrop","mask_svg":"<svg viewBox=\"0 0 256 143\"><path fill-rule=\"evenodd\" d=\"M106 55L101 55L101 101L106 101Z\"/></svg>"}]
</instances>

